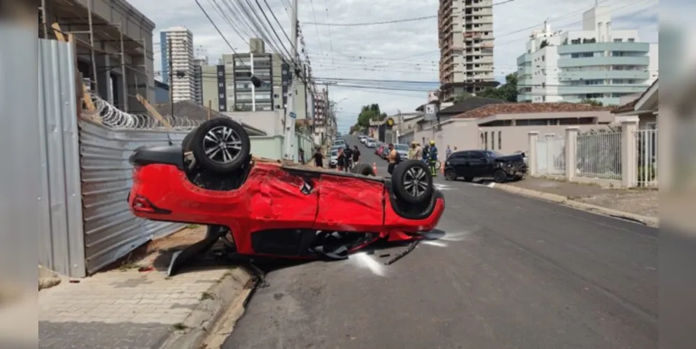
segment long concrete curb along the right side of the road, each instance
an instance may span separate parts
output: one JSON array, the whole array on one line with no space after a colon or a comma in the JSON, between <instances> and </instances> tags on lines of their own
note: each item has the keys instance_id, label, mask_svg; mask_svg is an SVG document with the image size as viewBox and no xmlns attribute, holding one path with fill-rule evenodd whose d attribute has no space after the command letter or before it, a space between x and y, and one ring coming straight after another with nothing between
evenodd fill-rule
<instances>
[{"instance_id":1,"label":"long concrete curb along the right side of the road","mask_svg":"<svg viewBox=\"0 0 696 349\"><path fill-rule=\"evenodd\" d=\"M493 188L498 188L501 191L507 191L508 193L514 193L518 195L527 196L529 198L536 198L540 200L545 200L549 202L554 202L561 205L566 205L568 207L573 207L575 209L582 209L584 211L590 211L597 214L603 214L605 216L612 216L617 218L628 219L630 221L637 221L651 227L658 227L660 225L660 219L656 217L641 216L640 214L632 214L629 212L619 211L616 209L607 209L606 207L601 207L597 205L586 204L584 202L570 200L568 197L563 195L544 193L542 191L533 191L531 189L520 188L517 186L510 186L510 184L494 184Z\"/></svg>"}]
</instances>

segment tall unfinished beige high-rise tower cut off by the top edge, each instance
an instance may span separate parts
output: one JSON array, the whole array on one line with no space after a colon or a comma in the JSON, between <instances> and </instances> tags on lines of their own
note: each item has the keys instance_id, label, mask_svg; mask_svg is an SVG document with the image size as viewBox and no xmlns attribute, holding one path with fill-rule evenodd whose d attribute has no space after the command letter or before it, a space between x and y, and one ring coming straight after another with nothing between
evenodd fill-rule
<instances>
[{"instance_id":1,"label":"tall unfinished beige high-rise tower cut off by the top edge","mask_svg":"<svg viewBox=\"0 0 696 349\"><path fill-rule=\"evenodd\" d=\"M497 86L492 0L440 0L438 37L441 101Z\"/></svg>"}]
</instances>

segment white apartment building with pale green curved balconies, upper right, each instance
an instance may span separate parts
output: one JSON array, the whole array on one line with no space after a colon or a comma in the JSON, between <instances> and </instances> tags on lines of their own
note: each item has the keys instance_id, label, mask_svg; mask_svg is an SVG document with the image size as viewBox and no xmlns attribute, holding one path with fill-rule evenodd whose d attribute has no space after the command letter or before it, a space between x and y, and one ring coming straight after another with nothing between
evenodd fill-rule
<instances>
[{"instance_id":1,"label":"white apartment building with pale green curved balconies, upper right","mask_svg":"<svg viewBox=\"0 0 696 349\"><path fill-rule=\"evenodd\" d=\"M658 44L641 43L638 31L612 29L610 6L582 16L582 30L533 31L527 52L517 57L520 102L591 99L620 105L658 78Z\"/></svg>"}]
</instances>

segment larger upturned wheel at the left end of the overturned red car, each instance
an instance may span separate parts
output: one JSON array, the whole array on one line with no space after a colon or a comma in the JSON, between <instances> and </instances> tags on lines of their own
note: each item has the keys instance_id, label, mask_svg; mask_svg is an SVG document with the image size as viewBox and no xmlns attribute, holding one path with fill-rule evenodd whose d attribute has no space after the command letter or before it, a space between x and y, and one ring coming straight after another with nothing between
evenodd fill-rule
<instances>
[{"instance_id":1,"label":"larger upturned wheel at the left end of the overturned red car","mask_svg":"<svg viewBox=\"0 0 696 349\"><path fill-rule=\"evenodd\" d=\"M218 173L239 170L251 151L249 135L243 126L227 117L216 117L198 126L191 138L196 161Z\"/></svg>"}]
</instances>

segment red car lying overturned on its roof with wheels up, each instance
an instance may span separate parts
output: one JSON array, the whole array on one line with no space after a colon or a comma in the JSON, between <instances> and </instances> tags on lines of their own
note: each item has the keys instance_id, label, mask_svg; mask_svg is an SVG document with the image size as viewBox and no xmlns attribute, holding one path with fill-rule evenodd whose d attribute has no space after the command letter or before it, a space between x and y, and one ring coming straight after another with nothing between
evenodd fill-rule
<instances>
[{"instance_id":1,"label":"red car lying overturned on its roof with wheels up","mask_svg":"<svg viewBox=\"0 0 696 349\"><path fill-rule=\"evenodd\" d=\"M181 146L140 147L130 156L128 205L141 218L208 225L206 239L182 253L222 239L238 255L273 258L343 259L379 239L419 239L444 211L421 161L383 178L368 164L336 172L250 148L243 126L226 117L205 121Z\"/></svg>"}]
</instances>

